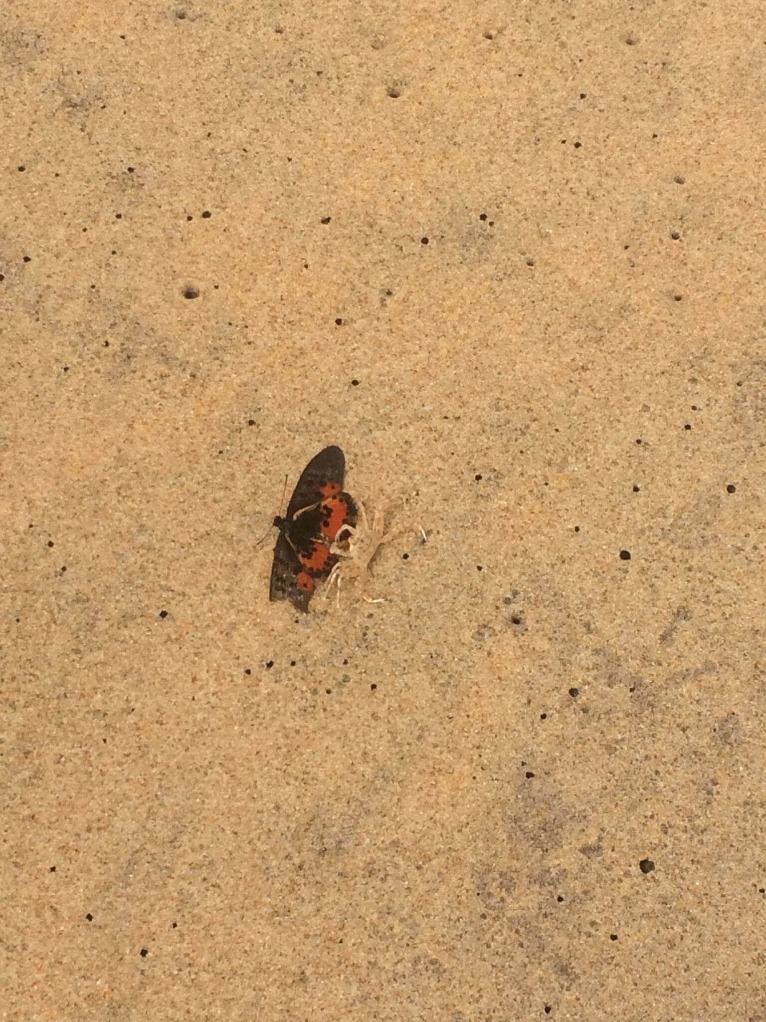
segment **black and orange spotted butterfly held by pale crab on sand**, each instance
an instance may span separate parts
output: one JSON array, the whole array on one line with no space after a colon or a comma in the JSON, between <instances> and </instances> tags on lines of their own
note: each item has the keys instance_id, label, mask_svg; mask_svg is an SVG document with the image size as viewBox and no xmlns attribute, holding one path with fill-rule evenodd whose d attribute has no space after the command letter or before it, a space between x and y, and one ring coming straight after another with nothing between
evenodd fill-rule
<instances>
[{"instance_id":1,"label":"black and orange spotted butterfly held by pale crab on sand","mask_svg":"<svg viewBox=\"0 0 766 1022\"><path fill-rule=\"evenodd\" d=\"M270 600L289 600L307 612L317 583L337 563L330 550L344 525L356 524L356 506L343 493L345 456L339 447L320 451L301 472L287 512L277 515Z\"/></svg>"}]
</instances>

